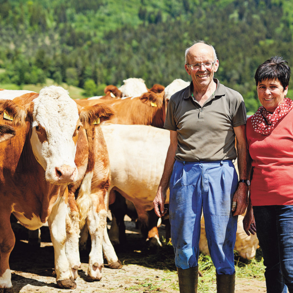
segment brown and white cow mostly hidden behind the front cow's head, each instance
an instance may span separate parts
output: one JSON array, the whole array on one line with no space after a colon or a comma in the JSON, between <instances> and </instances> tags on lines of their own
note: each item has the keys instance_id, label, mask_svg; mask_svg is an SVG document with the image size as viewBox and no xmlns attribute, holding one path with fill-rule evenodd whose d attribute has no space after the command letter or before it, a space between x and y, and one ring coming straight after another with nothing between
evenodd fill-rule
<instances>
[{"instance_id":1,"label":"brown and white cow mostly hidden behind the front cow's head","mask_svg":"<svg viewBox=\"0 0 293 293\"><path fill-rule=\"evenodd\" d=\"M103 104L96 106L100 105ZM107 110L104 114L108 119L113 112L109 114ZM99 122L102 121L100 119ZM100 127L87 127L86 133L85 131L80 133L75 163L78 167L79 179L68 186L66 255L70 267L75 270L74 276L77 277L77 270L81 264L79 257L80 230L86 226L92 240L87 279L95 281L102 278L103 251L110 268L120 269L122 267L106 229L110 167L107 147Z\"/></svg>"}]
</instances>

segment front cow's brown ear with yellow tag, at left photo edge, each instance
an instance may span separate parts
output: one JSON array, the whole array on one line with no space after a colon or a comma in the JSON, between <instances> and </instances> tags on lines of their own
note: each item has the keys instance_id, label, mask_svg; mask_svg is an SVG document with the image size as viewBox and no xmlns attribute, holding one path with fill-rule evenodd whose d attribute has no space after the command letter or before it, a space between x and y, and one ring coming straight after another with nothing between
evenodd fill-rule
<instances>
[{"instance_id":1,"label":"front cow's brown ear with yellow tag, at left photo edge","mask_svg":"<svg viewBox=\"0 0 293 293\"><path fill-rule=\"evenodd\" d=\"M11 100L0 100L0 117L10 125L23 126L26 116L25 107L17 105Z\"/></svg>"}]
</instances>

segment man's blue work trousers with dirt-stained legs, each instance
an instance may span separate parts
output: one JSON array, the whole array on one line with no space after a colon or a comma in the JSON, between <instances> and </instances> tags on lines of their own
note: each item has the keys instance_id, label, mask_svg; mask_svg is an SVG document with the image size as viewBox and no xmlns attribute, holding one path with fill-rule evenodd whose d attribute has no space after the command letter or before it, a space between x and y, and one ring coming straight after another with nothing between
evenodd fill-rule
<instances>
[{"instance_id":1,"label":"man's blue work trousers with dirt-stained legs","mask_svg":"<svg viewBox=\"0 0 293 293\"><path fill-rule=\"evenodd\" d=\"M171 239L175 265L197 266L200 220L203 210L209 253L218 274L233 274L237 216L232 197L238 176L230 160L216 162L175 161L170 179Z\"/></svg>"}]
</instances>

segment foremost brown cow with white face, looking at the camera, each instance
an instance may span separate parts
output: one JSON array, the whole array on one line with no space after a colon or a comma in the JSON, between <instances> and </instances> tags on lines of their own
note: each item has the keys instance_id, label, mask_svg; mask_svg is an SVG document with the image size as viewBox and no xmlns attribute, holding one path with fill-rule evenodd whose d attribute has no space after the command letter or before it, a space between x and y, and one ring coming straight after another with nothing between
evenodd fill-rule
<instances>
[{"instance_id":1,"label":"foremost brown cow with white face, looking at the camera","mask_svg":"<svg viewBox=\"0 0 293 293\"><path fill-rule=\"evenodd\" d=\"M0 101L0 123L16 135L0 144L0 290L12 292L9 255L15 237L13 213L28 229L48 221L57 284L76 288L66 253L67 184L79 180L75 165L80 127L100 119L108 107L80 108L62 87ZM112 114L112 112L111 112Z\"/></svg>"}]
</instances>

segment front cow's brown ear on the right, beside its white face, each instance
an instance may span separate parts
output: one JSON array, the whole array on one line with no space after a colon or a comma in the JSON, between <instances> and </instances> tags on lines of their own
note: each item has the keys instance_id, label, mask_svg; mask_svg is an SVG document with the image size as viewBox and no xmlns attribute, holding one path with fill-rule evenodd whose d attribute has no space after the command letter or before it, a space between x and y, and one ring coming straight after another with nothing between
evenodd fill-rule
<instances>
[{"instance_id":1,"label":"front cow's brown ear on the right, beside its white face","mask_svg":"<svg viewBox=\"0 0 293 293\"><path fill-rule=\"evenodd\" d=\"M115 114L113 107L105 104L81 107L77 105L79 116L84 127L99 125L100 123L112 118Z\"/></svg>"}]
</instances>

